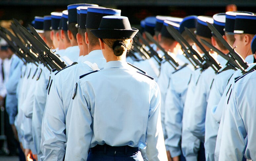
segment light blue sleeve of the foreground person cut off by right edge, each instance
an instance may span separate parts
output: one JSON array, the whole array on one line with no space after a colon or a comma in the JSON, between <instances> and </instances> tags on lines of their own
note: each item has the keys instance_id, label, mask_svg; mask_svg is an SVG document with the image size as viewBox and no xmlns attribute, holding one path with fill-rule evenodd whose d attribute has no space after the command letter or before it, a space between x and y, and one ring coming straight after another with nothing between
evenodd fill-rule
<instances>
[{"instance_id":1,"label":"light blue sleeve of the foreground person cut off by right edge","mask_svg":"<svg viewBox=\"0 0 256 161\"><path fill-rule=\"evenodd\" d=\"M236 92L233 91L223 122L219 160L242 160L246 136L243 119L237 106Z\"/></svg>"}]
</instances>

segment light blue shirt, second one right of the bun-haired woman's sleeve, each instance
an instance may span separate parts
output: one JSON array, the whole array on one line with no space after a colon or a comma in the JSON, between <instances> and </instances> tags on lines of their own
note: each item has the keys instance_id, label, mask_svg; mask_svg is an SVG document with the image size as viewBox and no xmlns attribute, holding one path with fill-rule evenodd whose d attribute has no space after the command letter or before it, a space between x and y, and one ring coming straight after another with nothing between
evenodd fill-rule
<instances>
[{"instance_id":1,"label":"light blue shirt, second one right of the bun-haired woman's sleeve","mask_svg":"<svg viewBox=\"0 0 256 161\"><path fill-rule=\"evenodd\" d=\"M165 99L165 129L167 132L165 147L172 157L181 154L183 108L193 70L191 65L187 65L170 76Z\"/></svg>"}]
</instances>

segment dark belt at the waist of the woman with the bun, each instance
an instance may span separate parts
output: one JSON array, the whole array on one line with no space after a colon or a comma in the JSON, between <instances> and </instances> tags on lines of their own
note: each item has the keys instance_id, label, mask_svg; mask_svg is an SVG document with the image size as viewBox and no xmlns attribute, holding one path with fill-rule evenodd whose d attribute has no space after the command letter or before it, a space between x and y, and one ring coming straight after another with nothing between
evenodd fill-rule
<instances>
[{"instance_id":1,"label":"dark belt at the waist of the woman with the bun","mask_svg":"<svg viewBox=\"0 0 256 161\"><path fill-rule=\"evenodd\" d=\"M104 151L104 153L106 153L107 151L114 151L114 152L132 152L132 153L136 153L137 151L139 151L138 147L131 147L131 146L110 146L107 144L104 145L96 145L94 147L91 147L91 151Z\"/></svg>"}]
</instances>

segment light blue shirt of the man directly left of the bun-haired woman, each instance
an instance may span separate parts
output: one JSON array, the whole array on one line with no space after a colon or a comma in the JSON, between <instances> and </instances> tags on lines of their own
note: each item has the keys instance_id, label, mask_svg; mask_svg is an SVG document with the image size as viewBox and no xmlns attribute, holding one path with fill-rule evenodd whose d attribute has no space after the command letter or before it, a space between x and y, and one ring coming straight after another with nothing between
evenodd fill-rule
<instances>
[{"instance_id":1,"label":"light blue shirt of the man directly left of the bun-haired woman","mask_svg":"<svg viewBox=\"0 0 256 161\"><path fill-rule=\"evenodd\" d=\"M93 50L84 56L84 61L96 63L102 69L106 63L101 50ZM50 87L42 121L40 160L63 160L68 137L72 93L79 76L93 71L85 63L78 63L55 75Z\"/></svg>"}]
</instances>

